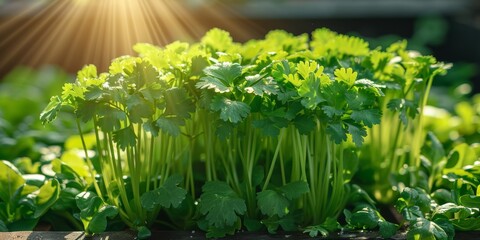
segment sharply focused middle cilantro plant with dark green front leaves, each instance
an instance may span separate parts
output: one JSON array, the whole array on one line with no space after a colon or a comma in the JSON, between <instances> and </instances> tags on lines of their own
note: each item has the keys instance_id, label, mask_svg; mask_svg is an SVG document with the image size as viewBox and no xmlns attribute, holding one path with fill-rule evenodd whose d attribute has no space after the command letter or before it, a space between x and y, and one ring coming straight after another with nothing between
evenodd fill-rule
<instances>
[{"instance_id":1,"label":"sharply focused middle cilantro plant with dark green front leaves","mask_svg":"<svg viewBox=\"0 0 480 240\"><path fill-rule=\"evenodd\" d=\"M382 86L316 51L306 35L274 31L239 47L212 30L201 44L211 56L196 82L206 178L225 181L234 199L244 200L237 202L242 211L217 224L211 214L225 210L204 190L204 230L233 234L243 218L247 229L290 231L338 217L356 170L355 147L380 122Z\"/></svg>"}]
</instances>

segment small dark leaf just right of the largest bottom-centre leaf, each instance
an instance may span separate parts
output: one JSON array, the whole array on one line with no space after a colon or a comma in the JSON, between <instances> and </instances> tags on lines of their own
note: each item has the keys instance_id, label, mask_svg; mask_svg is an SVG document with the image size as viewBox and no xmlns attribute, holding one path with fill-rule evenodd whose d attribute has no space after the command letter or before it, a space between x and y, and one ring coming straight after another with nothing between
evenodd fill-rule
<instances>
[{"instance_id":1,"label":"small dark leaf just right of the largest bottom-centre leaf","mask_svg":"<svg viewBox=\"0 0 480 240\"><path fill-rule=\"evenodd\" d=\"M274 190L265 190L257 193L258 208L269 217L283 217L289 213L290 201Z\"/></svg>"}]
</instances>

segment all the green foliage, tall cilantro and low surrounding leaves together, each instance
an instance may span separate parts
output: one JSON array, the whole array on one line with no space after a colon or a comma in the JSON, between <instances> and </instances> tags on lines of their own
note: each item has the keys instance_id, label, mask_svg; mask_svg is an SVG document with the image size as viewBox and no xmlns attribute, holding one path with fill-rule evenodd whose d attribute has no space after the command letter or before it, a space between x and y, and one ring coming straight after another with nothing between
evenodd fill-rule
<instances>
[{"instance_id":1,"label":"all the green foliage, tall cilantro and low surrounding leaves together","mask_svg":"<svg viewBox=\"0 0 480 240\"><path fill-rule=\"evenodd\" d=\"M409 238L478 228L478 147L456 142L446 154L423 128L448 66L406 42L372 50L318 29L240 44L212 29L198 43L134 49L107 72L85 66L50 99L41 121L73 112L80 135L39 161L4 162L0 181L14 187L0 189L0 230L61 217L87 234L127 226L139 238L152 225L388 238L399 226L369 194L394 190Z\"/></svg>"}]
</instances>

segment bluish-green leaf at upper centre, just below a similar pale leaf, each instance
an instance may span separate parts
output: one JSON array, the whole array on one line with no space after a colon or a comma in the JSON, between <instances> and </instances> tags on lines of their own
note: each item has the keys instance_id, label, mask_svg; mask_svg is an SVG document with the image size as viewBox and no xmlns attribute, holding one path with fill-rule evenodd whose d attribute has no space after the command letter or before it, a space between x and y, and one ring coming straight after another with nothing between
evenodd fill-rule
<instances>
[{"instance_id":1,"label":"bluish-green leaf at upper centre, just below a similar pale leaf","mask_svg":"<svg viewBox=\"0 0 480 240\"><path fill-rule=\"evenodd\" d=\"M210 105L213 111L220 111L220 118L223 121L238 123L250 113L250 107L239 101L233 101L228 98L216 96Z\"/></svg>"}]
</instances>

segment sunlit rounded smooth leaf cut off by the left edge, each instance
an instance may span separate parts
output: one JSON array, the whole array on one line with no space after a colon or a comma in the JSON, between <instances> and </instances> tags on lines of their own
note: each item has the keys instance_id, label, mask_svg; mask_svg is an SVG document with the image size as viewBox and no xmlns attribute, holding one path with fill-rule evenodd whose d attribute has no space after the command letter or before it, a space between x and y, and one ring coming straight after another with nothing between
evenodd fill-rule
<instances>
[{"instance_id":1,"label":"sunlit rounded smooth leaf cut off by the left edge","mask_svg":"<svg viewBox=\"0 0 480 240\"><path fill-rule=\"evenodd\" d=\"M0 161L0 198L10 202L15 192L25 184L22 174L8 161Z\"/></svg>"}]
</instances>

